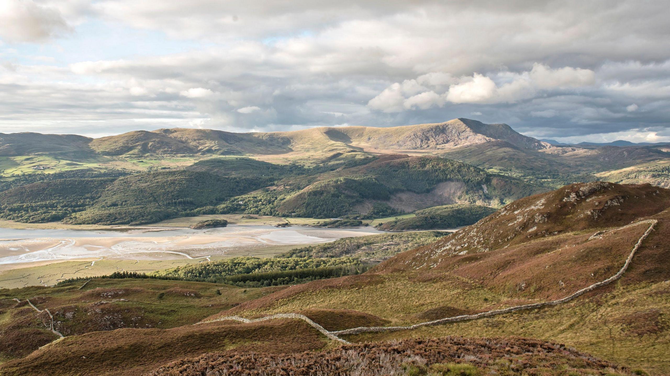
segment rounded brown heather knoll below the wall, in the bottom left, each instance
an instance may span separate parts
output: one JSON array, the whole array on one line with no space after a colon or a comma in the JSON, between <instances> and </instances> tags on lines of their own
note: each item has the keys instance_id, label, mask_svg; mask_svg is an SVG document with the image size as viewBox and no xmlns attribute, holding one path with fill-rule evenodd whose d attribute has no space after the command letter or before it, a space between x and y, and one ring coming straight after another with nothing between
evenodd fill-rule
<instances>
[{"instance_id":1,"label":"rounded brown heather knoll below the wall, in the bottom left","mask_svg":"<svg viewBox=\"0 0 670 376\"><path fill-rule=\"evenodd\" d=\"M170 329L123 328L68 337L0 365L3 375L136 376L186 357L213 351L302 353L322 349L326 337L306 322L184 325Z\"/></svg>"}]
</instances>

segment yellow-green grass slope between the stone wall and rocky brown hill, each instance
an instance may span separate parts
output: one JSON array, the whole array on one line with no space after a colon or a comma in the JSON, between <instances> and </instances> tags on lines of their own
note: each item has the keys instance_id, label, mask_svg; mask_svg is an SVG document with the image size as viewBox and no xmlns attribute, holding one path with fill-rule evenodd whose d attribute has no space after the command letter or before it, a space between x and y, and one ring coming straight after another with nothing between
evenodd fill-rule
<instances>
[{"instance_id":1,"label":"yellow-green grass slope between the stone wall and rocky brown hill","mask_svg":"<svg viewBox=\"0 0 670 376\"><path fill-rule=\"evenodd\" d=\"M508 306L508 300L504 294L447 274L362 274L294 286L284 290L280 300L249 302L223 315L252 317L320 308L350 309L403 325L421 322L420 317L435 310L476 312Z\"/></svg>"}]
</instances>

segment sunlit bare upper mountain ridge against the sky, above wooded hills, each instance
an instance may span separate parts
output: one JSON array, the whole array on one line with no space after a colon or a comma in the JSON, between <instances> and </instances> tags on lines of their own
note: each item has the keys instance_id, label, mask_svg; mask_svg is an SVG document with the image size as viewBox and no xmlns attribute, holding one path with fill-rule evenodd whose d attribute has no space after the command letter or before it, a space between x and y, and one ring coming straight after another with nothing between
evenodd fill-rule
<instances>
[{"instance_id":1,"label":"sunlit bare upper mountain ridge against the sky, above wooded hills","mask_svg":"<svg viewBox=\"0 0 670 376\"><path fill-rule=\"evenodd\" d=\"M22 135L22 136L19 136ZM2 144L2 141L9 141ZM492 140L506 140L522 149L550 149L551 145L524 136L507 124L484 124L477 120L456 118L440 123L393 127L342 126L316 127L277 132L227 132L213 129L159 128L133 130L100 138L72 134L12 133L0 135L0 153L22 155L23 149L12 147L19 138L23 143L35 140L72 140L77 151L106 156L145 154L283 154L309 151L315 147L334 147L350 151L451 149ZM88 141L88 143L86 143ZM53 142L52 142L53 143ZM87 144L87 145L85 145ZM62 145L56 142L54 145ZM369 150L368 150L369 149Z\"/></svg>"}]
</instances>

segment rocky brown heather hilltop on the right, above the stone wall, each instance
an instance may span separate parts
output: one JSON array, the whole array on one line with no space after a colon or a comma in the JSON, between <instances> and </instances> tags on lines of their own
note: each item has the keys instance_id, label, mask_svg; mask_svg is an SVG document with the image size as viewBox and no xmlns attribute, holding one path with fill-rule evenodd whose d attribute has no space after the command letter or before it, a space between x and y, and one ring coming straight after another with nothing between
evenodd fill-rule
<instances>
[{"instance_id":1,"label":"rocky brown heather hilltop on the right, above the stone wall","mask_svg":"<svg viewBox=\"0 0 670 376\"><path fill-rule=\"evenodd\" d=\"M491 252L569 231L620 226L667 207L670 190L652 185L567 185L515 201L464 231L389 260L381 268L439 266L451 256Z\"/></svg>"}]
</instances>

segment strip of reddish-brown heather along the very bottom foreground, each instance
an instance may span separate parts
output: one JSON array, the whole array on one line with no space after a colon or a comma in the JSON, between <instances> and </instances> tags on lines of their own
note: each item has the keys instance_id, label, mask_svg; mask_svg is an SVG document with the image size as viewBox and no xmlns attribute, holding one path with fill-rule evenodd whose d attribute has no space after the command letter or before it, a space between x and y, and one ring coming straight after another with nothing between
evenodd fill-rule
<instances>
[{"instance_id":1,"label":"strip of reddish-brown heather along the very bottom foreground","mask_svg":"<svg viewBox=\"0 0 670 376\"><path fill-rule=\"evenodd\" d=\"M462 365L458 367L458 365ZM454 369L449 373L448 369ZM458 373L467 369L470 373ZM310 375L629 375L570 349L534 339L443 337L344 345L328 351L266 355L228 351L176 361L147 376Z\"/></svg>"}]
</instances>

